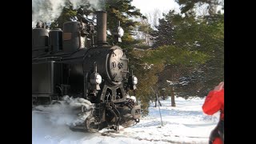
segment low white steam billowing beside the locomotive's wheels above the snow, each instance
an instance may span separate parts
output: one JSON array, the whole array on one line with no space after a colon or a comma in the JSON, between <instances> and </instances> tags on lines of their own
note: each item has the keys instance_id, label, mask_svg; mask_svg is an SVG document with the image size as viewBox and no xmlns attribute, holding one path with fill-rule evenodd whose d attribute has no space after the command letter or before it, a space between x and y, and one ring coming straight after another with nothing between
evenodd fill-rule
<instances>
[{"instance_id":1,"label":"low white steam billowing beside the locomotive's wheels above the snow","mask_svg":"<svg viewBox=\"0 0 256 144\"><path fill-rule=\"evenodd\" d=\"M38 113L46 115L46 119L53 126L76 126L85 122L91 110L93 110L93 104L90 101L84 98L65 96L60 103L49 106L36 106L32 110L32 119Z\"/></svg>"}]
</instances>

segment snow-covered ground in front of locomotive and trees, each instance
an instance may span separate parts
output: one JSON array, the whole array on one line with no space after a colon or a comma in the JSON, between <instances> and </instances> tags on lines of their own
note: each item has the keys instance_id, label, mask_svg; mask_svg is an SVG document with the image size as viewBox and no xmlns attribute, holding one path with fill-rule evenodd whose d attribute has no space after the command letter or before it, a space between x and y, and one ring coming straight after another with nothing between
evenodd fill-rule
<instances>
[{"instance_id":1,"label":"snow-covered ground in front of locomotive and trees","mask_svg":"<svg viewBox=\"0 0 256 144\"><path fill-rule=\"evenodd\" d=\"M141 118L132 127L118 133L102 136L99 133L73 132L66 122L68 117L52 117L32 111L33 144L137 144L137 143L208 143L210 131L218 123L219 113L208 116L202 113L204 98L175 98L176 107L170 106L170 99L158 106L151 103L149 115ZM162 126L163 123L163 126Z\"/></svg>"}]
</instances>

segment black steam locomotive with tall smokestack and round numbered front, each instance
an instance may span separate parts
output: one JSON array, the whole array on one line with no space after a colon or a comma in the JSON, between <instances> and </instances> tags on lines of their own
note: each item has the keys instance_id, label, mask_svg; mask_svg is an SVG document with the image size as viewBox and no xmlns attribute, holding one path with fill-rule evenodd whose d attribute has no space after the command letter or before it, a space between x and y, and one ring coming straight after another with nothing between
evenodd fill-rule
<instances>
[{"instance_id":1,"label":"black steam locomotive with tall smokestack and round numbered front","mask_svg":"<svg viewBox=\"0 0 256 144\"><path fill-rule=\"evenodd\" d=\"M121 36L117 33L115 39ZM86 47L86 38L91 46ZM78 107L86 118L71 130L118 130L138 123L141 106L128 94L137 82L123 50L106 42L105 11L97 12L97 26L87 20L65 22L63 30L40 24L32 29L32 107L58 104L67 95L90 103L90 109Z\"/></svg>"}]
</instances>

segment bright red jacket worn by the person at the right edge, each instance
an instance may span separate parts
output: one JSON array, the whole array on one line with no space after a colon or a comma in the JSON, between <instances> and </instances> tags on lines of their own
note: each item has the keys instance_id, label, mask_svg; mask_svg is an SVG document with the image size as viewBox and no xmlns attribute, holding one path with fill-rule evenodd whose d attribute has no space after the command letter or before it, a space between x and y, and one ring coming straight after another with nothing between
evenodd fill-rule
<instances>
[{"instance_id":1,"label":"bright red jacket worn by the person at the right edge","mask_svg":"<svg viewBox=\"0 0 256 144\"><path fill-rule=\"evenodd\" d=\"M221 119L224 121L224 89L219 91L211 90L202 105L202 110L209 115L221 110Z\"/></svg>"}]
</instances>

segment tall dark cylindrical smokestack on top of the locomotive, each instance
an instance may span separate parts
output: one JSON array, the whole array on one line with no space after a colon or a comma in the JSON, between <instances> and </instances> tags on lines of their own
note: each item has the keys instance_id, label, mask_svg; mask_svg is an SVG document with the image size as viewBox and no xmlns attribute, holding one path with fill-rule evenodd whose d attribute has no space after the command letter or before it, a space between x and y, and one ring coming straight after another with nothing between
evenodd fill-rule
<instances>
[{"instance_id":1,"label":"tall dark cylindrical smokestack on top of the locomotive","mask_svg":"<svg viewBox=\"0 0 256 144\"><path fill-rule=\"evenodd\" d=\"M106 11L97 11L97 43L106 44Z\"/></svg>"}]
</instances>

